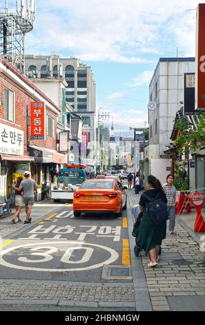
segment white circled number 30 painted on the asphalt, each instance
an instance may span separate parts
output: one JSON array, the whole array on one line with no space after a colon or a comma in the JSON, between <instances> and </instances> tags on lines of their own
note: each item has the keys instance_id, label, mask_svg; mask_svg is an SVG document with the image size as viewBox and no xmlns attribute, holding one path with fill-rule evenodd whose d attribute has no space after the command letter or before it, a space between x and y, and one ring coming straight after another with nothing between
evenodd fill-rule
<instances>
[{"instance_id":1,"label":"white circled number 30 painted on the asphalt","mask_svg":"<svg viewBox=\"0 0 205 325\"><path fill-rule=\"evenodd\" d=\"M39 246L39 248L36 248L36 246ZM47 247L48 245L48 247ZM57 249L55 247L55 245L59 245L59 249ZM66 253L64 254L64 256L62 257L63 259L63 263L66 264L71 264L72 266L75 264L79 264L80 267L78 268L32 268L32 266L27 267L27 266L20 266L20 265L15 265L12 263L9 263L8 261L5 261L3 259L3 255L6 254L14 254L15 255L15 250L21 249L22 248L26 248L26 257L23 257L21 255L23 255L23 252L21 252L17 257L18 261L22 261L23 258L23 263L35 263L35 259L28 260L28 255L32 255L32 256L37 256L37 257L41 257L41 260L38 260L38 263L40 262L44 262L44 261L49 261L52 260L52 254L49 253L54 253L56 257L59 256L59 253L57 253L57 250L59 250L60 252L62 250L66 250ZM43 249L47 249L47 253L46 252L42 252L42 248ZM106 261L101 261L97 264L93 264L90 266L84 266L83 264L85 262L87 262L88 260L90 260L91 257L91 252L93 252L95 249L97 250L105 250L107 253L110 254L110 257L108 257L108 259L106 259ZM40 250L40 252L37 252L38 250ZM84 255L81 256L81 254L79 255L81 260L76 260L73 259L73 255L75 256L74 252L76 252L77 250L84 250ZM32 252L32 253L31 253ZM99 254L99 256L101 256L102 258L104 257L104 254ZM43 259L42 259L43 257ZM111 264L114 263L117 259L119 258L119 254L113 250L112 248L108 248L106 246L103 245L96 245L93 243L83 243L83 242L77 242L77 241L48 241L48 242L44 242L44 243L29 243L29 244L25 244L25 245L17 245L15 247L12 248L7 248L6 250L2 250L0 252L0 264L7 267L7 268L16 268L18 270L31 270L31 271L41 271L41 272L70 272L70 271L84 271L84 270L93 270L96 268L101 268L102 266L104 266L105 264ZM64 261L65 260L65 261ZM82 261L84 263L82 263ZM62 262L61 262L62 263ZM61 265L61 264L60 264Z\"/></svg>"}]
</instances>

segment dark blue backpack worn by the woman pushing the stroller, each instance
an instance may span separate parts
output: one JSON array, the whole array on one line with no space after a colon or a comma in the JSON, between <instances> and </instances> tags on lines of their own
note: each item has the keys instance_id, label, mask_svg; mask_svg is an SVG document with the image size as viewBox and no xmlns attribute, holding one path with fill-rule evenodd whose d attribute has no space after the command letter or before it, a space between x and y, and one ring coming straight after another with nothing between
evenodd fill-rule
<instances>
[{"instance_id":1,"label":"dark blue backpack worn by the woman pushing the stroller","mask_svg":"<svg viewBox=\"0 0 205 325\"><path fill-rule=\"evenodd\" d=\"M150 201L150 203L148 203L147 212L155 225L161 225L168 220L167 205L162 198L159 198L160 194L159 192L155 198L150 198L150 196L143 193L144 198Z\"/></svg>"}]
</instances>

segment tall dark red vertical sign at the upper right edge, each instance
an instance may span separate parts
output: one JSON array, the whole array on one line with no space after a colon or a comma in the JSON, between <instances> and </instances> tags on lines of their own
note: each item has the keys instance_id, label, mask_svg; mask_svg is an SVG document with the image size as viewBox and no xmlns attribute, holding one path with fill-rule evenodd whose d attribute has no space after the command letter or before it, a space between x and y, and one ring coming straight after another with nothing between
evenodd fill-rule
<instances>
[{"instance_id":1,"label":"tall dark red vertical sign at the upper right edge","mask_svg":"<svg viewBox=\"0 0 205 325\"><path fill-rule=\"evenodd\" d=\"M195 109L205 109L205 3L197 7Z\"/></svg>"}]
</instances>

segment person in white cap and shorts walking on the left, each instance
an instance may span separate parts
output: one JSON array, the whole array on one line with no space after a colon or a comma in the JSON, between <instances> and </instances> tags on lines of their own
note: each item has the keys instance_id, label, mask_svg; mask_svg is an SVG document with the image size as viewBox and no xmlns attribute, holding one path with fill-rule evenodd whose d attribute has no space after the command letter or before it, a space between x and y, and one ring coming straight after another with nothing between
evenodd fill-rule
<instances>
[{"instance_id":1,"label":"person in white cap and shorts walking on the left","mask_svg":"<svg viewBox=\"0 0 205 325\"><path fill-rule=\"evenodd\" d=\"M26 220L24 221L25 224L31 222L31 210L32 205L35 202L35 192L37 192L37 183L35 180L30 178L30 172L24 171L23 176L26 178L22 180L19 188L17 191L21 192L23 190L23 203L26 205Z\"/></svg>"}]
</instances>

